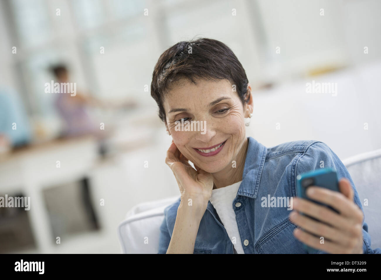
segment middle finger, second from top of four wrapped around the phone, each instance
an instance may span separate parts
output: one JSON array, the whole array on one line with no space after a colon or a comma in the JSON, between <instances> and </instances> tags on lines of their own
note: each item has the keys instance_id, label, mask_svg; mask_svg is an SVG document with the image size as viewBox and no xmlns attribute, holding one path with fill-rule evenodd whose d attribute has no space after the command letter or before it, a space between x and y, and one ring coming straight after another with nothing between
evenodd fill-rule
<instances>
[{"instance_id":1,"label":"middle finger, second from top of four wrapped around the phone","mask_svg":"<svg viewBox=\"0 0 381 280\"><path fill-rule=\"evenodd\" d=\"M357 234L357 229L354 226L356 224L355 221L341 216L323 205L316 204L300 197L293 197L292 208L309 215L312 218L327 223L334 228L348 232L350 235Z\"/></svg>"}]
</instances>

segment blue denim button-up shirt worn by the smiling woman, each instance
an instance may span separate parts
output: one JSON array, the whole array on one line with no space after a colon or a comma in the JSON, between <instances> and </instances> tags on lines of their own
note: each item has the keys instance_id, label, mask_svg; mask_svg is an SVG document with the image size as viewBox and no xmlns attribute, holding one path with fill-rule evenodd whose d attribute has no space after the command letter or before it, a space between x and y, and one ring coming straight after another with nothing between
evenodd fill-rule
<instances>
[{"instance_id":1,"label":"blue denim button-up shirt worn by the smiling woman","mask_svg":"<svg viewBox=\"0 0 381 280\"><path fill-rule=\"evenodd\" d=\"M291 211L287 210L287 206L262 207L261 198L298 196L296 176L319 169L322 161L324 167L336 170L339 180L345 177L351 182L354 202L363 210L346 167L325 143L314 140L293 141L266 148L254 138L248 137L242 183L232 202L245 254L307 253L303 243L293 236L296 225L289 220ZM160 226L159 254L165 254L168 249L179 204L180 199L165 208L165 217ZM371 249L368 225L365 222L362 234L363 253L381 253L379 248ZM200 221L194 253L236 253L210 201Z\"/></svg>"}]
</instances>

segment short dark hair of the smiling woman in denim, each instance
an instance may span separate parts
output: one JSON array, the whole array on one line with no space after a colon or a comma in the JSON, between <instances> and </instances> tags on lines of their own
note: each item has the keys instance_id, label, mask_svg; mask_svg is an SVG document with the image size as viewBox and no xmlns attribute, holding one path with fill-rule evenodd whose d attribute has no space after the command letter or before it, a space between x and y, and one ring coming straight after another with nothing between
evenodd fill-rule
<instances>
[{"instance_id":1,"label":"short dark hair of the smiling woman in denim","mask_svg":"<svg viewBox=\"0 0 381 280\"><path fill-rule=\"evenodd\" d=\"M192 53L188 49L192 49ZM228 46L209 38L181 41L162 53L152 74L151 96L159 107L159 118L164 122L164 96L171 89L170 85L181 78L187 78L194 84L197 84L194 78L227 79L236 86L242 104L247 103L247 97L250 97L250 92L247 96L245 70Z\"/></svg>"}]
</instances>

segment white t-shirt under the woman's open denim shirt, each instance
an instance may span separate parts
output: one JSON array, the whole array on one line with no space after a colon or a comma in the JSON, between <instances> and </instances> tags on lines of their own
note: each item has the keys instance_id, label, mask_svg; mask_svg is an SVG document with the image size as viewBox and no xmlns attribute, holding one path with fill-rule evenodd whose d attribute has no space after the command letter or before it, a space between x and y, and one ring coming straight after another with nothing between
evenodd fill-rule
<instances>
[{"instance_id":1,"label":"white t-shirt under the woman's open denim shirt","mask_svg":"<svg viewBox=\"0 0 381 280\"><path fill-rule=\"evenodd\" d=\"M233 244L238 254L245 254L242 248L241 237L238 231L238 224L233 210L233 200L237 196L237 191L242 181L224 188L213 189L210 197L210 203L216 209L216 212L221 219L226 229L230 240L235 237L237 243Z\"/></svg>"}]
</instances>

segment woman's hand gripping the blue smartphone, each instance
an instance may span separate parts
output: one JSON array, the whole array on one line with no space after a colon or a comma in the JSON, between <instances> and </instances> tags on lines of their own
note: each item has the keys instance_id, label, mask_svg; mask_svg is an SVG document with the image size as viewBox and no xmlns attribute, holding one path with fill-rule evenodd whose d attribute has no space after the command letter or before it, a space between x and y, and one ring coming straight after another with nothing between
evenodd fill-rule
<instances>
[{"instance_id":1,"label":"woman's hand gripping the blue smartphone","mask_svg":"<svg viewBox=\"0 0 381 280\"><path fill-rule=\"evenodd\" d=\"M306 245L327 253L362 254L363 213L353 201L354 192L351 183L346 178L339 181L339 190L340 192L336 192L311 186L306 193L311 199L330 205L339 214L323 205L300 197L293 197L292 207L297 211L290 213L290 220L293 224L305 230L295 229L293 234ZM298 211L323 223L303 216L297 213ZM309 232L324 237L324 243L321 244L320 238Z\"/></svg>"}]
</instances>

